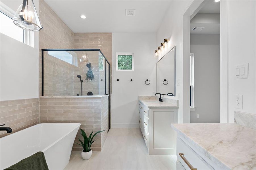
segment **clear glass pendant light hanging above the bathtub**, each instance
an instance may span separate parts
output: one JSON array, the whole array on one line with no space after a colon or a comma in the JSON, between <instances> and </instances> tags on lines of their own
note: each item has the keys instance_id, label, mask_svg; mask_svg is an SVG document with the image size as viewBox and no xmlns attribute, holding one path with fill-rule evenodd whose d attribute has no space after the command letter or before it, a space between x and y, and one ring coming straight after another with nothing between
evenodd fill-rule
<instances>
[{"instance_id":1,"label":"clear glass pendant light hanging above the bathtub","mask_svg":"<svg viewBox=\"0 0 256 170\"><path fill-rule=\"evenodd\" d=\"M28 0L23 0L13 17L13 23L28 31L40 31L43 26L39 20L33 0L31 2L32 4L29 6Z\"/></svg>"}]
</instances>

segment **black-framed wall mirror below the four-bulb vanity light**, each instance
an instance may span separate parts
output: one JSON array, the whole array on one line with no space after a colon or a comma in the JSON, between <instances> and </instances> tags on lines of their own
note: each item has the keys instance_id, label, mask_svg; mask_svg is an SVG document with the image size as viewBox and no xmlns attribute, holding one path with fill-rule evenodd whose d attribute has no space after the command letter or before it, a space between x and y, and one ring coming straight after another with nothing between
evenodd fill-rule
<instances>
[{"instance_id":1,"label":"black-framed wall mirror below the four-bulb vanity light","mask_svg":"<svg viewBox=\"0 0 256 170\"><path fill-rule=\"evenodd\" d=\"M157 93L175 96L175 46L157 61Z\"/></svg>"}]
</instances>

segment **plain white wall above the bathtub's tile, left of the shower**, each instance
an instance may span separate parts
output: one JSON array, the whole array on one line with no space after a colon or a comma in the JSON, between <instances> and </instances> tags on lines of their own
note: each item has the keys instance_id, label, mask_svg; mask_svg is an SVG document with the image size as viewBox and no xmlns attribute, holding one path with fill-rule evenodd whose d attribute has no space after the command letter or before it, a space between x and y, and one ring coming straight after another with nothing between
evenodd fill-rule
<instances>
[{"instance_id":1,"label":"plain white wall above the bathtub's tile, left of the shower","mask_svg":"<svg viewBox=\"0 0 256 170\"><path fill-rule=\"evenodd\" d=\"M38 1L34 3L38 9ZM1 101L38 97L38 32L34 33L34 43L33 48L0 34Z\"/></svg>"}]
</instances>

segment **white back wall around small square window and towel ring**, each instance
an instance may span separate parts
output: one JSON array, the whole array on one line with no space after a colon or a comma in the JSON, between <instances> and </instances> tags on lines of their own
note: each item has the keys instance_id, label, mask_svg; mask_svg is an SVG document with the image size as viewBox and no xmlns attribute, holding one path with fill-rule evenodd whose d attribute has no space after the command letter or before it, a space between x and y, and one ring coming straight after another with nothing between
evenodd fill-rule
<instances>
[{"instance_id":1,"label":"white back wall around small square window and towel ring","mask_svg":"<svg viewBox=\"0 0 256 170\"><path fill-rule=\"evenodd\" d=\"M155 42L155 33L113 33L111 128L139 127L138 96L156 91ZM134 71L116 71L116 52L134 53Z\"/></svg>"}]
</instances>

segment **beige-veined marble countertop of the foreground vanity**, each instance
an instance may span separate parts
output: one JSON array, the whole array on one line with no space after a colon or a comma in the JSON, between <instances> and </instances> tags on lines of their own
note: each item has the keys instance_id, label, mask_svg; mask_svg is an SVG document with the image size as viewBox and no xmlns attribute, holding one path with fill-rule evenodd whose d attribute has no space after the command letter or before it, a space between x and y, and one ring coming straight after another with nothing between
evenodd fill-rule
<instances>
[{"instance_id":1,"label":"beige-veined marble countertop of the foreground vanity","mask_svg":"<svg viewBox=\"0 0 256 170\"><path fill-rule=\"evenodd\" d=\"M171 126L222 169L256 168L255 129L234 123L191 123Z\"/></svg>"}]
</instances>

